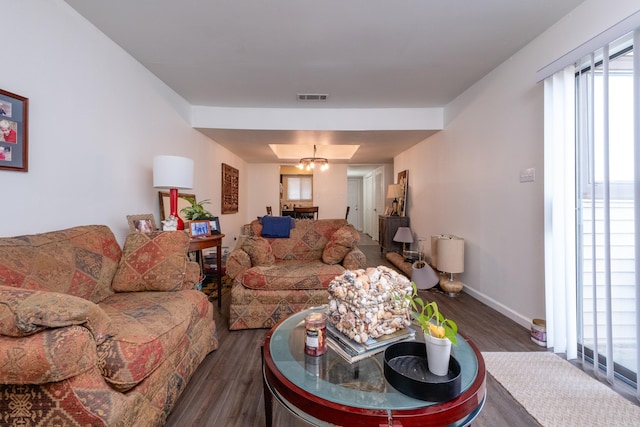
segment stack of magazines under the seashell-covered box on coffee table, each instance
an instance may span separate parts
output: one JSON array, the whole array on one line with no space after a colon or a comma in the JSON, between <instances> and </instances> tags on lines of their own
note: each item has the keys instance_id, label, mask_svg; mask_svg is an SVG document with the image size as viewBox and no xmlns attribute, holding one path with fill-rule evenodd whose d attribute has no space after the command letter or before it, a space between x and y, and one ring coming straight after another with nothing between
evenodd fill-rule
<instances>
[{"instance_id":1,"label":"stack of magazines under the seashell-covered box on coffee table","mask_svg":"<svg viewBox=\"0 0 640 427\"><path fill-rule=\"evenodd\" d=\"M383 335L379 338L369 338L365 343L357 343L338 331L330 322L327 322L327 345L349 363L378 354L391 344L414 340L415 337L416 331L407 327L393 334Z\"/></svg>"}]
</instances>

